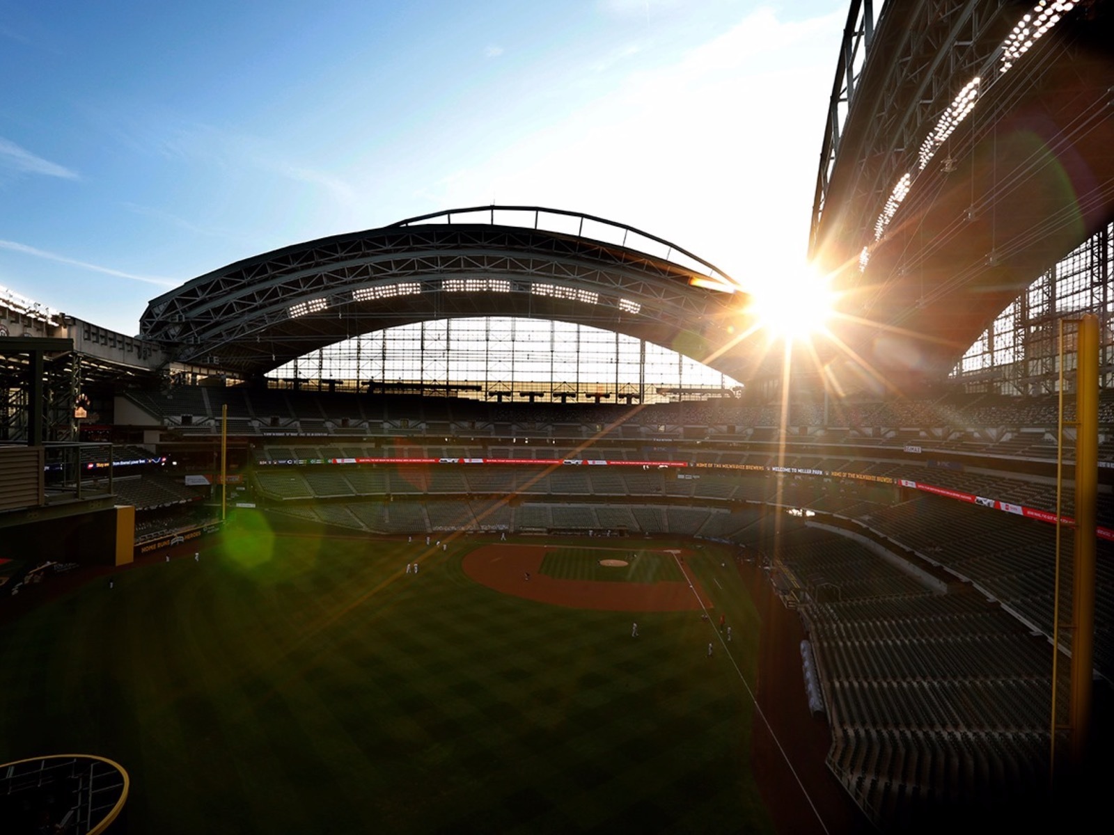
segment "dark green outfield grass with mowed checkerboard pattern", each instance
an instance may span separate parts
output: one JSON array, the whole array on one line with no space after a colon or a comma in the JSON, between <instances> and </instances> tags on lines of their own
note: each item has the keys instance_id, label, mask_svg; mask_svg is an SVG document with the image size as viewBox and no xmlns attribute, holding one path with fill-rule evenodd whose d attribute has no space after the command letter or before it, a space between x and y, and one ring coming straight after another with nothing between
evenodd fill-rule
<instances>
[{"instance_id":1,"label":"dark green outfield grass with mowed checkerboard pattern","mask_svg":"<svg viewBox=\"0 0 1114 835\"><path fill-rule=\"evenodd\" d=\"M688 561L721 647L692 612L632 639L629 612L500 595L468 547L416 577L417 544L228 533L45 603L0 628L0 762L119 762L133 834L770 829L730 561Z\"/></svg>"}]
</instances>

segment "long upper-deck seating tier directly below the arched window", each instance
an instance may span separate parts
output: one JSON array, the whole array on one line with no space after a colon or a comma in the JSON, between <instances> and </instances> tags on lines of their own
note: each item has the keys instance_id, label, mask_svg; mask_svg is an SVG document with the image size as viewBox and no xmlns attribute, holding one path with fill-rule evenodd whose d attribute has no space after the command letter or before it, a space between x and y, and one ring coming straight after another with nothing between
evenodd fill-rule
<instances>
[{"instance_id":1,"label":"long upper-deck seating tier directly below the arched window","mask_svg":"<svg viewBox=\"0 0 1114 835\"><path fill-rule=\"evenodd\" d=\"M624 404L482 403L416 396L370 400L324 391L189 385L158 393L128 392L125 396L149 414L153 423L187 435L218 434L221 410L226 405L229 431L236 434L365 439L468 435L529 439L541 444L518 444L516 458L546 454L547 442L571 445L590 438L677 441L697 435L733 443L822 440L892 450L911 443L937 452L1045 461L1056 454L1055 396L949 395L935 401L792 403L784 420L778 406L734 399L631 409ZM1074 403L1066 406L1065 420L1072 421ZM1114 394L1105 391L1100 401L1100 424L1106 439L1100 445L1100 455L1114 460ZM604 432L605 428L612 429ZM692 460L723 463L725 454L705 445L693 450Z\"/></svg>"}]
</instances>

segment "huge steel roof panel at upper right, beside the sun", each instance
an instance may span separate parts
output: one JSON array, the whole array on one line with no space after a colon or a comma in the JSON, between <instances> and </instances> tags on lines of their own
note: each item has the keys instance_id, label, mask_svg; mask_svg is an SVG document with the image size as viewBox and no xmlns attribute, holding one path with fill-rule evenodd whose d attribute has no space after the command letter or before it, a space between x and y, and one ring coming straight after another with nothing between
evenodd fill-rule
<instances>
[{"instance_id":1,"label":"huge steel roof panel at upper right, beside the sun","mask_svg":"<svg viewBox=\"0 0 1114 835\"><path fill-rule=\"evenodd\" d=\"M876 24L851 2L810 245L857 320L840 335L883 371L941 379L1114 219L1114 3L1056 4L1034 36L1046 7L890 0Z\"/></svg>"}]
</instances>

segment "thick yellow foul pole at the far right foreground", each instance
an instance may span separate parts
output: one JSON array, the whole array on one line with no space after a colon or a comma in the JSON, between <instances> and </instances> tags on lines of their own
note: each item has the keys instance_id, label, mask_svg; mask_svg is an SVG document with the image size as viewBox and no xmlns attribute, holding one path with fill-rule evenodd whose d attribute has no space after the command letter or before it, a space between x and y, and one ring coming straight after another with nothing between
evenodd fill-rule
<instances>
[{"instance_id":1,"label":"thick yellow foul pole at the far right foreground","mask_svg":"<svg viewBox=\"0 0 1114 835\"><path fill-rule=\"evenodd\" d=\"M1083 765L1091 731L1098 497L1098 317L1079 321L1075 372L1075 578L1072 632L1072 760Z\"/></svg>"}]
</instances>

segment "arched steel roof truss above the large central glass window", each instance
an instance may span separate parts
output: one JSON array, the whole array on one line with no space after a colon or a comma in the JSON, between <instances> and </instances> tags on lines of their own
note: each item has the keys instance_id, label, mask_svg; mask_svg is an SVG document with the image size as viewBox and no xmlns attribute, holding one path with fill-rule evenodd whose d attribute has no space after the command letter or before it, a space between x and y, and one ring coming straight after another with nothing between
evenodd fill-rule
<instances>
[{"instance_id":1,"label":"arched steel roof truss above the large central glass window","mask_svg":"<svg viewBox=\"0 0 1114 835\"><path fill-rule=\"evenodd\" d=\"M532 227L496 223L524 216L532 216ZM571 222L575 232L539 228L545 218ZM617 243L587 237L586 224ZM737 379L749 367L733 345L744 327L745 298L707 285L735 289L713 265L637 229L554 209L492 206L237 262L153 299L140 332L175 361L254 375L393 325L530 316L677 345Z\"/></svg>"}]
</instances>

